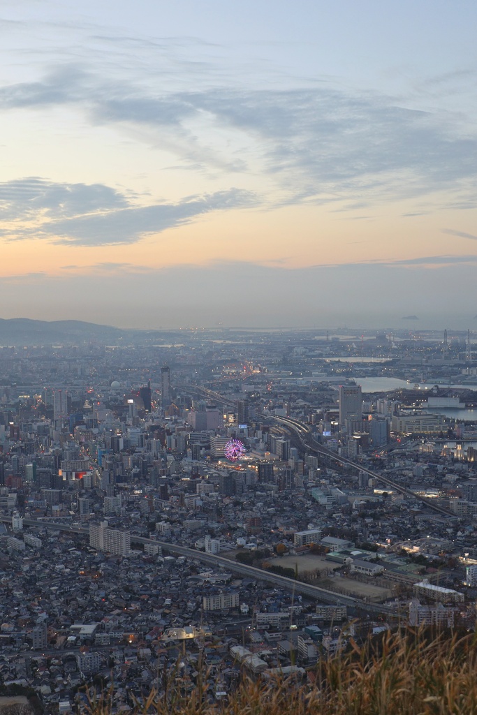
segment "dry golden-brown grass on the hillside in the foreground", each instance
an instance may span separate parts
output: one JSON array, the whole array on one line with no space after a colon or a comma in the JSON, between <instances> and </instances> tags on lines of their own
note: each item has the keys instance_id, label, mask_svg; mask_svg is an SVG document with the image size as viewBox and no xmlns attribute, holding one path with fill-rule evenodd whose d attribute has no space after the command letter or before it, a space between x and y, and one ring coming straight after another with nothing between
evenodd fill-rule
<instances>
[{"instance_id":1,"label":"dry golden-brown grass on the hillside in the foreground","mask_svg":"<svg viewBox=\"0 0 477 715\"><path fill-rule=\"evenodd\" d=\"M153 691L134 715L477 715L477 638L408 630L323 661L315 684L245 679L220 705L205 686L181 695ZM111 695L92 702L91 715L109 715Z\"/></svg>"}]
</instances>

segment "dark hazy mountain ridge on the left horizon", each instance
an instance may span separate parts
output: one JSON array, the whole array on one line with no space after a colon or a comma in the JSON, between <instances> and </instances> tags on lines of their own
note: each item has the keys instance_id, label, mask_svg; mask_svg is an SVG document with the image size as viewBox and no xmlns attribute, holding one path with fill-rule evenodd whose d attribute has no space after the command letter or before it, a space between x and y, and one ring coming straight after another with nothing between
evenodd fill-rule
<instances>
[{"instance_id":1,"label":"dark hazy mountain ridge on the left horizon","mask_svg":"<svg viewBox=\"0 0 477 715\"><path fill-rule=\"evenodd\" d=\"M50 345L51 343L118 340L131 335L110 325L97 325L82 320L29 320L24 317L0 318L0 345Z\"/></svg>"}]
</instances>

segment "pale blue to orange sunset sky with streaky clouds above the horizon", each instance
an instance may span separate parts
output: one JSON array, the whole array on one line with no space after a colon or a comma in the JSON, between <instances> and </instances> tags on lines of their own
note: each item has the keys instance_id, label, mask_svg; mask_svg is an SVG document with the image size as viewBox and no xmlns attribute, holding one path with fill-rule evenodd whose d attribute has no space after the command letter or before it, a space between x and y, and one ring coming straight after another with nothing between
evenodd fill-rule
<instances>
[{"instance_id":1,"label":"pale blue to orange sunset sky with streaky clouds above the horizon","mask_svg":"<svg viewBox=\"0 0 477 715\"><path fill-rule=\"evenodd\" d=\"M477 330L476 26L0 0L0 317Z\"/></svg>"}]
</instances>

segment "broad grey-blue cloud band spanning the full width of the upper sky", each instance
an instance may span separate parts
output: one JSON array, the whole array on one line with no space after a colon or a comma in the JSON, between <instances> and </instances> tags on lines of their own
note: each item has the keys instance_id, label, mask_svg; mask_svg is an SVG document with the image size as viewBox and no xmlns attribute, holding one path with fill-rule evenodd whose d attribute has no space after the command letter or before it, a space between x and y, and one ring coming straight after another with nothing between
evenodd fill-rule
<instances>
[{"instance_id":1,"label":"broad grey-blue cloud band spanning the full width of the upper sky","mask_svg":"<svg viewBox=\"0 0 477 715\"><path fill-rule=\"evenodd\" d=\"M253 167L290 202L354 197L368 206L446 189L459 203L476 205L477 138L461 132L450 113L410 109L384 94L328 82L177 92L167 91L154 69L147 79L147 87L127 77L99 79L69 65L38 82L0 89L0 107L74 104L93 123L147 128L144 141L163 146L192 170Z\"/></svg>"}]
</instances>

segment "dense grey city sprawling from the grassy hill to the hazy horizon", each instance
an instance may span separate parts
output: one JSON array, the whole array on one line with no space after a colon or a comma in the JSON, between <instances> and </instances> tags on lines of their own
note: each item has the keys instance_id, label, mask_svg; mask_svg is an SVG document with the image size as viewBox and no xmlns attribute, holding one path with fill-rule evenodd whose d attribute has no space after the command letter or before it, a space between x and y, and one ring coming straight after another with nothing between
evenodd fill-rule
<instances>
[{"instance_id":1,"label":"dense grey city sprawling from the grassy hill to the hazy horizon","mask_svg":"<svg viewBox=\"0 0 477 715\"><path fill-rule=\"evenodd\" d=\"M46 712L473 628L470 331L139 331L0 367L0 673Z\"/></svg>"}]
</instances>

